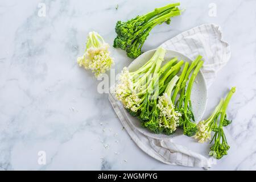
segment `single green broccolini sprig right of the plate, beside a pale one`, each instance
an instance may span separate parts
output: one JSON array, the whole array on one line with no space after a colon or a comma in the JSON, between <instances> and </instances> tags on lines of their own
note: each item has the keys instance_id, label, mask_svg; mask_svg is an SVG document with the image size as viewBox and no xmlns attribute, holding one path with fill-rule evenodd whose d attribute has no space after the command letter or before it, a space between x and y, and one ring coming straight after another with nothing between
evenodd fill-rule
<instances>
[{"instance_id":1,"label":"single green broccolini sprig right of the plate, beside a pale one","mask_svg":"<svg viewBox=\"0 0 256 182\"><path fill-rule=\"evenodd\" d=\"M210 156L215 156L217 159L221 159L222 156L228 154L229 145L226 140L226 136L223 130L223 124L226 119L226 109L228 107L229 101L232 97L232 95L236 92L236 88L233 87L230 89L228 96L226 96L224 104L221 108L221 116L220 116L220 122L218 123L218 129L215 131L214 137L210 143L214 141L214 144L212 147L210 147ZM225 121L226 122L226 121Z\"/></svg>"}]
</instances>

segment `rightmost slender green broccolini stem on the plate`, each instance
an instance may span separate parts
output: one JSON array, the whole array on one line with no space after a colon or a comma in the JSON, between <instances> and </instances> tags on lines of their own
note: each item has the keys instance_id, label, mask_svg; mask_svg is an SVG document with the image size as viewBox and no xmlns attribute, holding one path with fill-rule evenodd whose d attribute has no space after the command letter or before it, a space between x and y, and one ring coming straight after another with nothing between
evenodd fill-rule
<instances>
[{"instance_id":1,"label":"rightmost slender green broccolini stem on the plate","mask_svg":"<svg viewBox=\"0 0 256 182\"><path fill-rule=\"evenodd\" d=\"M185 97L185 101L184 101L184 113L187 113L188 101L190 100L193 82L195 81L197 73L200 71L200 68L203 66L203 64L204 64L204 61L200 61L199 64L197 64L195 71L192 73L192 76L189 79L186 97Z\"/></svg>"}]
</instances>

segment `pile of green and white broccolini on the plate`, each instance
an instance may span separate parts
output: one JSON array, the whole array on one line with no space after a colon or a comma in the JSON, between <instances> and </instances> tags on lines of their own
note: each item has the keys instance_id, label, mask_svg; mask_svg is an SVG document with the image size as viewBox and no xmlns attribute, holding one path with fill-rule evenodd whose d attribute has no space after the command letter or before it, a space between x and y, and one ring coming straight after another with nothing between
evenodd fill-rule
<instances>
[{"instance_id":1,"label":"pile of green and white broccolini on the plate","mask_svg":"<svg viewBox=\"0 0 256 182\"><path fill-rule=\"evenodd\" d=\"M196 124L191 121L190 95L203 61L199 56L188 68L189 63L184 64L183 60L174 58L161 67L165 52L158 48L152 58L135 72L124 68L115 86L115 96L153 133L171 135L181 126L184 134L191 136L195 134ZM183 64L179 77L177 73ZM190 78L189 73L192 73ZM180 98L176 101L177 93ZM175 102L179 104L175 105Z\"/></svg>"}]
</instances>

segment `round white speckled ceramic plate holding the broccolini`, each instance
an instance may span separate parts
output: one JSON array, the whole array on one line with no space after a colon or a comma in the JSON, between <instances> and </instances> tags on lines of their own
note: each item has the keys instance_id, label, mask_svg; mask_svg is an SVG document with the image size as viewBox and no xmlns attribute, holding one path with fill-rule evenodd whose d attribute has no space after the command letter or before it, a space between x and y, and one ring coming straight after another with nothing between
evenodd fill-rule
<instances>
[{"instance_id":1,"label":"round white speckled ceramic plate holding the broccolini","mask_svg":"<svg viewBox=\"0 0 256 182\"><path fill-rule=\"evenodd\" d=\"M137 57L130 65L129 71L136 71L139 67L142 67L150 58L154 55L155 49L151 51L144 52L142 55ZM189 59L187 56L183 55L182 53L166 50L166 55L164 57L164 61L162 65L166 64L172 58L177 57L178 60L184 60L185 62L191 63L192 60ZM182 70L182 69L181 69ZM205 107L207 105L207 87L205 84L205 78L201 71L198 73L195 82L192 87L191 92L191 102L193 108L193 114L195 115L195 121L198 122L203 117ZM135 117L132 117L129 113L127 113L127 117L129 117L129 121L131 124L141 133L147 135L148 137L156 138L156 139L164 139L164 138L171 138L177 135L183 134L183 131L177 129L174 135L168 136L164 134L154 134L151 131L147 130L146 128L141 126L141 122Z\"/></svg>"}]
</instances>

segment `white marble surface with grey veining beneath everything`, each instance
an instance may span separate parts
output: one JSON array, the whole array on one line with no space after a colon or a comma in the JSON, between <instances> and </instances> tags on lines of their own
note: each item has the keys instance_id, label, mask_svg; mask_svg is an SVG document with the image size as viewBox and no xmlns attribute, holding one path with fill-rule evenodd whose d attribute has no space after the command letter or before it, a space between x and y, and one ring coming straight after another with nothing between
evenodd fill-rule
<instances>
[{"instance_id":1,"label":"white marble surface with grey veining beneath everything","mask_svg":"<svg viewBox=\"0 0 256 182\"><path fill-rule=\"evenodd\" d=\"M40 2L46 5L43 17ZM169 2L1 1L0 169L200 169L168 166L144 154L122 130L108 95L97 92L99 81L76 64L89 31L112 44L117 20ZM212 2L216 17L208 15ZM143 49L203 23L220 24L232 57L209 89L205 115L228 88L236 85L237 92L228 109L233 123L226 129L232 148L212 170L256 169L256 2L181 0L181 6L183 15L171 26L155 27ZM131 59L111 49L119 72ZM208 144L188 147L207 154ZM38 164L39 151L46 151L46 165Z\"/></svg>"}]
</instances>

